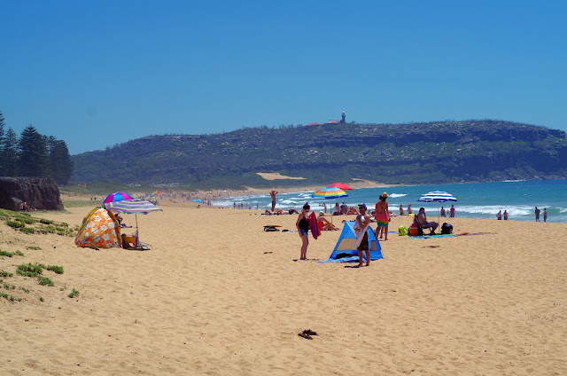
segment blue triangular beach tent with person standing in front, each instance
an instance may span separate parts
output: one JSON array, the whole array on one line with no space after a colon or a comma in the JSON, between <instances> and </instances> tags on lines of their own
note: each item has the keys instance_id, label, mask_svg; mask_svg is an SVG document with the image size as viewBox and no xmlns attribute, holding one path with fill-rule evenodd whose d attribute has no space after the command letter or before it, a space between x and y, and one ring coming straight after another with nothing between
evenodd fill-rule
<instances>
[{"instance_id":1,"label":"blue triangular beach tent with person standing in front","mask_svg":"<svg viewBox=\"0 0 567 376\"><path fill-rule=\"evenodd\" d=\"M338 237L337 245L333 249L333 253L330 254L329 259L324 262L349 262L358 261L358 251L354 247L356 242L356 233L354 232L353 222L346 222L343 231ZM367 227L366 231L369 234L369 250L370 250L370 260L378 260L384 258L382 256L382 248L380 243L374 235L374 231ZM366 260L366 255L362 253L363 258ZM337 258L338 257L338 258Z\"/></svg>"}]
</instances>

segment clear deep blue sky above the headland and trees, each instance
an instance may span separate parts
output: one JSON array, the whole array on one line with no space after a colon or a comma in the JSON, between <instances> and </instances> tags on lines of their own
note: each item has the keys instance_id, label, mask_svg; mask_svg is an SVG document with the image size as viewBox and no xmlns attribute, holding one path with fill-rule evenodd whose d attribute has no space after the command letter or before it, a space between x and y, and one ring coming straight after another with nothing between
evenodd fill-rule
<instances>
[{"instance_id":1,"label":"clear deep blue sky above the headland and trees","mask_svg":"<svg viewBox=\"0 0 567 376\"><path fill-rule=\"evenodd\" d=\"M0 111L71 153L260 125L567 130L565 1L0 0Z\"/></svg>"}]
</instances>

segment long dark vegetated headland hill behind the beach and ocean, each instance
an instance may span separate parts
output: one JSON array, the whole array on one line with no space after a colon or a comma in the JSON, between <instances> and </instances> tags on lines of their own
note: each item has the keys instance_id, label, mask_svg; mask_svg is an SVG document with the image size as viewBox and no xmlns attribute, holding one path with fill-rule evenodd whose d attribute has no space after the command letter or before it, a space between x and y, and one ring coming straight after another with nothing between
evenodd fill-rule
<instances>
[{"instance_id":1,"label":"long dark vegetated headland hill behind the beach and ocean","mask_svg":"<svg viewBox=\"0 0 567 376\"><path fill-rule=\"evenodd\" d=\"M567 137L509 121L438 121L247 128L141 137L73 156L76 182L237 188L327 184L353 178L428 184L563 178ZM268 181L259 172L305 180Z\"/></svg>"}]
</instances>

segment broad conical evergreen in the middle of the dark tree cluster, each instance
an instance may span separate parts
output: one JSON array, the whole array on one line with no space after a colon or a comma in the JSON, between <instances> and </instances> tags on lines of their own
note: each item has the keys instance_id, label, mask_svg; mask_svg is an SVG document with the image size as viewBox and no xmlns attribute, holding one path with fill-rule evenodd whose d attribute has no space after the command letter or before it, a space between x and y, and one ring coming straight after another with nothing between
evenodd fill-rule
<instances>
[{"instance_id":1,"label":"broad conical evergreen in the middle of the dark tree cluster","mask_svg":"<svg viewBox=\"0 0 567 376\"><path fill-rule=\"evenodd\" d=\"M47 170L47 145L33 125L28 125L19 137L19 176L45 176Z\"/></svg>"}]
</instances>

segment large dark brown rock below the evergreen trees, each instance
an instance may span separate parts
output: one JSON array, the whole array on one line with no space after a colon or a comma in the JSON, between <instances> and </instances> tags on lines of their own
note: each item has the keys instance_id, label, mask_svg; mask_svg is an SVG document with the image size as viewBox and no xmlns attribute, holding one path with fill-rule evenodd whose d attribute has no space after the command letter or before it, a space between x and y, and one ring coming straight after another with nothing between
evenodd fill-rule
<instances>
[{"instance_id":1,"label":"large dark brown rock below the evergreen trees","mask_svg":"<svg viewBox=\"0 0 567 376\"><path fill-rule=\"evenodd\" d=\"M63 210L55 180L50 177L0 177L0 208L19 210L20 203L37 210Z\"/></svg>"}]
</instances>

